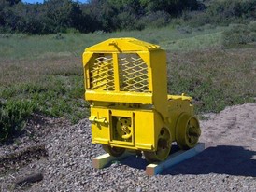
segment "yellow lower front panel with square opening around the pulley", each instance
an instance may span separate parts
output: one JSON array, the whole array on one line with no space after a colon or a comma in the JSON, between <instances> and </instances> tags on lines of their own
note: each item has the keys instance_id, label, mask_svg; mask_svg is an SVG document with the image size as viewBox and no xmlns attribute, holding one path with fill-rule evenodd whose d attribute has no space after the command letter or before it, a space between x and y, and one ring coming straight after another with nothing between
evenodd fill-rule
<instances>
[{"instance_id":1,"label":"yellow lower front panel with square opening around the pulley","mask_svg":"<svg viewBox=\"0 0 256 192\"><path fill-rule=\"evenodd\" d=\"M113 121L116 117L131 118L131 140L116 135ZM91 108L92 143L111 144L135 150L153 150L156 146L155 128L162 128L160 116L154 110ZM102 120L101 122L99 122Z\"/></svg>"}]
</instances>

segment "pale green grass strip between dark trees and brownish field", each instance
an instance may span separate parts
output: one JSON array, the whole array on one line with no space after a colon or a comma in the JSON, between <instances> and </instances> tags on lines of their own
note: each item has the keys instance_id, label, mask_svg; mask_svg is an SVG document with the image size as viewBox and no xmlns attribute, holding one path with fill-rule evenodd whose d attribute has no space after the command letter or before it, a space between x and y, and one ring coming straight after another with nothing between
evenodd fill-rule
<instances>
[{"instance_id":1,"label":"pale green grass strip between dark trees and brownish field","mask_svg":"<svg viewBox=\"0 0 256 192\"><path fill-rule=\"evenodd\" d=\"M208 29L189 27L164 27L143 31L117 32L107 34L50 34L28 36L13 34L0 36L0 61L33 60L60 57L80 57L84 48L112 37L135 37L159 44L167 50L188 51L216 46L224 28ZM196 42L200 43L200 47ZM202 44L203 42L203 44ZM194 44L195 43L195 44Z\"/></svg>"}]
</instances>

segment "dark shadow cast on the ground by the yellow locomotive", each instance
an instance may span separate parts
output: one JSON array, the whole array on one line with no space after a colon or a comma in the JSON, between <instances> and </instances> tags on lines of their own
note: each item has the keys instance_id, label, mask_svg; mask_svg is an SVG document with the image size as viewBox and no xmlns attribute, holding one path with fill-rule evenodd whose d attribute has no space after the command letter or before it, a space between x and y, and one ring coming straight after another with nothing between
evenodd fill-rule
<instances>
[{"instance_id":1,"label":"dark shadow cast on the ground by the yellow locomotive","mask_svg":"<svg viewBox=\"0 0 256 192\"><path fill-rule=\"evenodd\" d=\"M121 160L136 169L145 170L147 161L142 158L129 157ZM162 174L208 174L219 173L256 177L256 152L242 146L218 145L206 148L202 153L189 158Z\"/></svg>"}]
</instances>

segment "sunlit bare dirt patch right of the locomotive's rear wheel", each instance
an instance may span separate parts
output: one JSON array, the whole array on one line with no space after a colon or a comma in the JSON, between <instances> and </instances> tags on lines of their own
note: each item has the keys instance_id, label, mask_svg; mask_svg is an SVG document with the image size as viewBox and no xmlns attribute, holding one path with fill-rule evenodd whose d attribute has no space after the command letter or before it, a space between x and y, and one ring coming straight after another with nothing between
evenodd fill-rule
<instances>
[{"instance_id":1,"label":"sunlit bare dirt patch right of the locomotive's rear wheel","mask_svg":"<svg viewBox=\"0 0 256 192\"><path fill-rule=\"evenodd\" d=\"M256 103L227 107L201 121L201 142L244 146L256 151Z\"/></svg>"}]
</instances>

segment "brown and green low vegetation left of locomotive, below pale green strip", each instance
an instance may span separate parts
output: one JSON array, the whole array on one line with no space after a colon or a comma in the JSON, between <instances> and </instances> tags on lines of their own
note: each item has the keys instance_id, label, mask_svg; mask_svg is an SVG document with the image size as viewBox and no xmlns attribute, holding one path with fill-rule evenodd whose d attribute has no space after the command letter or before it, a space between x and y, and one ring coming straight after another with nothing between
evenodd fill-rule
<instances>
[{"instance_id":1,"label":"brown and green low vegetation left of locomotive, below pale green strip","mask_svg":"<svg viewBox=\"0 0 256 192\"><path fill-rule=\"evenodd\" d=\"M1 61L0 68L0 107L1 101L17 101L32 103L38 113L67 117L73 122L88 116L80 58Z\"/></svg>"}]
</instances>

